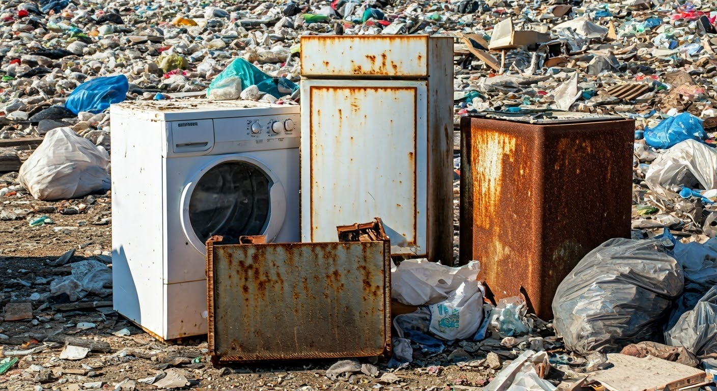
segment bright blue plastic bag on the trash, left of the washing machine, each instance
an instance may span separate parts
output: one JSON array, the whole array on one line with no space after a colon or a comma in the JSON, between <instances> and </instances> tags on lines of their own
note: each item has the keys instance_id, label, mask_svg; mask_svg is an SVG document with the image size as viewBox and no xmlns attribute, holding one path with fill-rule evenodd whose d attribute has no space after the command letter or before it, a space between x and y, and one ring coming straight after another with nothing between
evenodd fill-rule
<instances>
[{"instance_id":1,"label":"bright blue plastic bag on the trash, left of the washing machine","mask_svg":"<svg viewBox=\"0 0 717 391\"><path fill-rule=\"evenodd\" d=\"M124 102L129 89L125 75L97 77L75 88L67 97L65 108L75 114L80 111L102 113L111 104Z\"/></svg>"}]
</instances>

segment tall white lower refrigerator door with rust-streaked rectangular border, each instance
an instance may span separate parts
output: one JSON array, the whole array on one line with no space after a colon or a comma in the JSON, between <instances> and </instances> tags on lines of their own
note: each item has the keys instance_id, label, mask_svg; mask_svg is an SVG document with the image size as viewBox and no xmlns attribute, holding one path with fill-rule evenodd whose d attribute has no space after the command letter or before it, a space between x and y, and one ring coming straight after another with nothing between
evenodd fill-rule
<instances>
[{"instance_id":1,"label":"tall white lower refrigerator door with rust-streaked rectangular border","mask_svg":"<svg viewBox=\"0 0 717 391\"><path fill-rule=\"evenodd\" d=\"M381 217L391 253L424 255L427 84L303 80L301 236L335 242L336 226Z\"/></svg>"}]
</instances>

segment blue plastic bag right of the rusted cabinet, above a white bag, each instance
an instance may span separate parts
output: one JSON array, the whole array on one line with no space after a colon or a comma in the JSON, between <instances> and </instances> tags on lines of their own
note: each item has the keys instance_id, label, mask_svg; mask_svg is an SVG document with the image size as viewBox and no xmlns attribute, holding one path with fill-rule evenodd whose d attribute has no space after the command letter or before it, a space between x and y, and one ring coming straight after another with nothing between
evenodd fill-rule
<instances>
[{"instance_id":1,"label":"blue plastic bag right of the rusted cabinet, above a white bag","mask_svg":"<svg viewBox=\"0 0 717 391\"><path fill-rule=\"evenodd\" d=\"M645 128L645 142L657 149L668 149L680 141L695 139L702 141L707 133L702 120L690 113L665 118L655 128Z\"/></svg>"}]
</instances>

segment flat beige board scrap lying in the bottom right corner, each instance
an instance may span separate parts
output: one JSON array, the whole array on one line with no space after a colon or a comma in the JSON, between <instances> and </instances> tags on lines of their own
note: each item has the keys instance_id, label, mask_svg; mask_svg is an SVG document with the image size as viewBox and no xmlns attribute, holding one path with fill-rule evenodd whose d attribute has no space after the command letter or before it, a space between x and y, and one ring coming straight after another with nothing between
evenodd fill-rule
<instances>
[{"instance_id":1,"label":"flat beige board scrap lying in the bottom right corner","mask_svg":"<svg viewBox=\"0 0 717 391\"><path fill-rule=\"evenodd\" d=\"M591 384L599 383L609 391L673 391L705 382L703 370L670 362L657 357L638 358L612 353L607 360L613 367L597 371L588 377Z\"/></svg>"}]
</instances>

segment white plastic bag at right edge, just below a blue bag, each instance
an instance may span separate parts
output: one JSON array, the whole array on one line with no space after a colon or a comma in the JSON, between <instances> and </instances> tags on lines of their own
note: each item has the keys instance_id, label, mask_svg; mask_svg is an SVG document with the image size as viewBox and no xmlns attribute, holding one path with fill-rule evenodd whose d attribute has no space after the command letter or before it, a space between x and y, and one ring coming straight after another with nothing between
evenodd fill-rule
<instances>
[{"instance_id":1,"label":"white plastic bag at right edge, just below a blue bag","mask_svg":"<svg viewBox=\"0 0 717 391\"><path fill-rule=\"evenodd\" d=\"M695 140L685 140L657 156L645 175L647 186L663 199L679 197L681 187L717 187L717 150Z\"/></svg>"}]
</instances>

